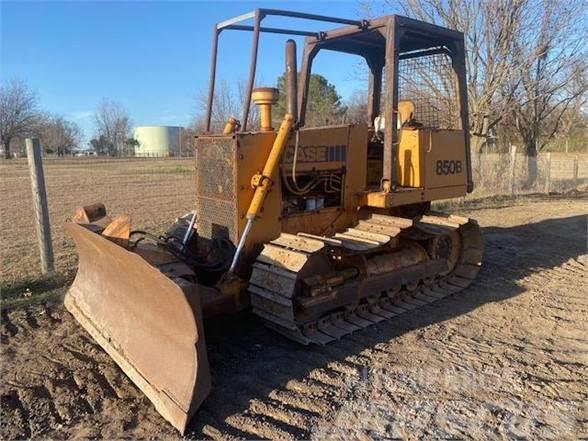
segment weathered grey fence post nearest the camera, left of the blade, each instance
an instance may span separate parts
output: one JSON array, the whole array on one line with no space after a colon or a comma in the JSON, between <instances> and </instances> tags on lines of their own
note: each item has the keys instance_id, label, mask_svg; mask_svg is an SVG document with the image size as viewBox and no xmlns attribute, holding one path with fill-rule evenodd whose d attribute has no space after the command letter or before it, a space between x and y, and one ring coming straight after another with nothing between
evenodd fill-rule
<instances>
[{"instance_id":1,"label":"weathered grey fence post nearest the camera, left of the blade","mask_svg":"<svg viewBox=\"0 0 588 441\"><path fill-rule=\"evenodd\" d=\"M27 160L31 173L31 189L33 191L33 209L35 211L35 227L41 255L41 272L53 271L53 245L47 209L47 192L45 191L45 175L41 159L41 143L37 138L27 138Z\"/></svg>"}]
</instances>

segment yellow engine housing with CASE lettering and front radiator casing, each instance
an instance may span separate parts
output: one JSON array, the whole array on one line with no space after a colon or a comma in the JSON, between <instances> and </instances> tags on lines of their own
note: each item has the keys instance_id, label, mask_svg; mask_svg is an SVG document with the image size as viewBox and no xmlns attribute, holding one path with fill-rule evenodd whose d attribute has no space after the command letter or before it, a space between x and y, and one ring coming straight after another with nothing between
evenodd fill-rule
<instances>
[{"instance_id":1,"label":"yellow engine housing with CASE lettering and front radiator casing","mask_svg":"<svg viewBox=\"0 0 588 441\"><path fill-rule=\"evenodd\" d=\"M198 138L196 226L202 237L224 237L235 245L238 243L254 194L251 177L263 169L275 136L274 132L253 132ZM365 125L302 129L297 175L343 170L341 206L284 215L280 173L292 174L295 145L292 136L280 170L272 176L273 187L245 244L244 256L255 254L261 244L275 239L282 231L324 234L349 227L357 218L360 195L366 186L367 140ZM243 265L247 260L243 259Z\"/></svg>"}]
</instances>

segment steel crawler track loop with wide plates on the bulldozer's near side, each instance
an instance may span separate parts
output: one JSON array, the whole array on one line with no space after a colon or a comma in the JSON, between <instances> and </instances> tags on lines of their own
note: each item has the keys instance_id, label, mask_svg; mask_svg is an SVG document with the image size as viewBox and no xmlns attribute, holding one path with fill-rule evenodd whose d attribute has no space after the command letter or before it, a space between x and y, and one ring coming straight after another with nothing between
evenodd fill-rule
<instances>
[{"instance_id":1,"label":"steel crawler track loop with wide plates on the bulldozer's near side","mask_svg":"<svg viewBox=\"0 0 588 441\"><path fill-rule=\"evenodd\" d=\"M319 320L296 320L296 277L306 260L332 247L368 252L400 236L435 237L457 231L461 249L453 270L412 286L390 287L345 311L326 313ZM386 236L386 237L384 237ZM383 320L413 311L467 288L480 269L483 239L476 221L440 213L415 219L373 215L334 237L282 234L267 244L254 264L249 292L253 312L266 326L302 344L327 344Z\"/></svg>"}]
</instances>

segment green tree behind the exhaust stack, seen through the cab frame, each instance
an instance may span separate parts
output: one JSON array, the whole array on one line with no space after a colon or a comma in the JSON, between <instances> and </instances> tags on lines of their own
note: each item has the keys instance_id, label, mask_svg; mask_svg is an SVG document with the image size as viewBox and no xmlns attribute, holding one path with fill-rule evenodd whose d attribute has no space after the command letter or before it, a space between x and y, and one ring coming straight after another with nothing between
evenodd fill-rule
<instances>
[{"instance_id":1,"label":"green tree behind the exhaust stack, seen through the cab frame","mask_svg":"<svg viewBox=\"0 0 588 441\"><path fill-rule=\"evenodd\" d=\"M286 113L286 80L284 75L278 77L280 98L273 111L273 124L277 127ZM341 124L347 108L337 93L335 86L318 74L311 74L308 87L305 125L308 127Z\"/></svg>"}]
</instances>

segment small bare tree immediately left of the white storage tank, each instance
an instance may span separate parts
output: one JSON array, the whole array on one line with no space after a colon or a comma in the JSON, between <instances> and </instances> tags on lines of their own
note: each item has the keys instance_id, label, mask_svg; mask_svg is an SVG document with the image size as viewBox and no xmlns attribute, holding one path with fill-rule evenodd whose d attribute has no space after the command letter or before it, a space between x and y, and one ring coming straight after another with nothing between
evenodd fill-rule
<instances>
[{"instance_id":1,"label":"small bare tree immediately left of the white storage tank","mask_svg":"<svg viewBox=\"0 0 588 441\"><path fill-rule=\"evenodd\" d=\"M105 153L116 156L129 154L131 144L131 120L127 111L119 104L110 100L103 100L94 113L96 123L96 138ZM98 145L90 142L92 146Z\"/></svg>"}]
</instances>

